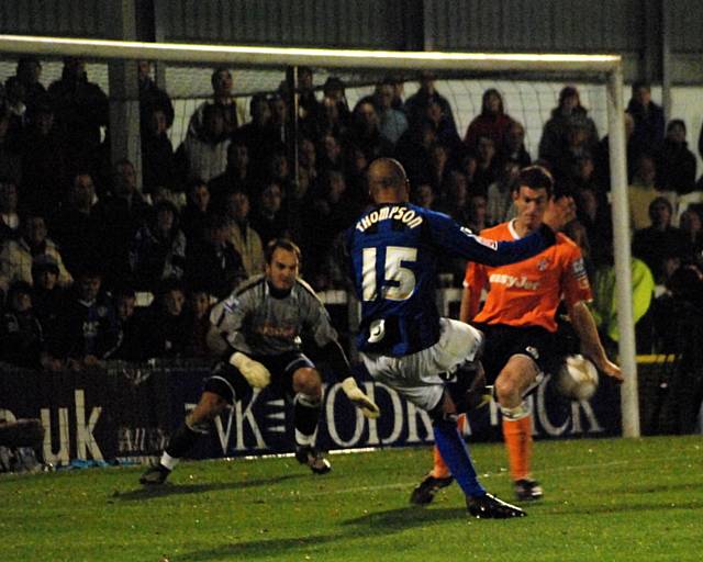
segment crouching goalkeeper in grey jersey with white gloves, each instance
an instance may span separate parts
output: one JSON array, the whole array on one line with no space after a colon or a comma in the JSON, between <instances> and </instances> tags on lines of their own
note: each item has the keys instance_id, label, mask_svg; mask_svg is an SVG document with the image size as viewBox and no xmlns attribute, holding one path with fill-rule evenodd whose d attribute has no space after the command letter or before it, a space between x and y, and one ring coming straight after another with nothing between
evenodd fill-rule
<instances>
[{"instance_id":1,"label":"crouching goalkeeper in grey jersey with white gloves","mask_svg":"<svg viewBox=\"0 0 703 562\"><path fill-rule=\"evenodd\" d=\"M141 477L142 484L163 484L178 460L207 434L211 422L230 404L272 384L292 400L295 458L316 474L331 470L315 448L322 404L322 376L301 349L312 336L332 370L342 379L346 396L370 418L378 406L358 387L339 346L327 311L314 291L298 277L300 250L287 239L266 248L266 270L245 281L212 310L209 340L222 351L204 384L200 402L170 436L160 462Z\"/></svg>"}]
</instances>

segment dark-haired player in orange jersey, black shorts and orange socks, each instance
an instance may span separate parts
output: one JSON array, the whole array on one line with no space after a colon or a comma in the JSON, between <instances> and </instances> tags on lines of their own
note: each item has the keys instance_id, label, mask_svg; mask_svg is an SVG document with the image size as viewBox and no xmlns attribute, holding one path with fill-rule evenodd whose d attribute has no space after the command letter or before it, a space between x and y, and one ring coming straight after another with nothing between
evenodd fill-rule
<instances>
[{"instance_id":1,"label":"dark-haired player in orange jersey, black shorts and orange socks","mask_svg":"<svg viewBox=\"0 0 703 562\"><path fill-rule=\"evenodd\" d=\"M516 217L482 231L483 238L522 238L539 228L550 214L574 206L569 193L554 191L551 176L539 166L521 171L512 198ZM479 312L481 291L487 285L488 297ZM604 374L623 380L620 368L605 355L587 305L591 288L581 251L570 238L558 234L555 246L524 261L500 267L469 263L464 286L459 319L471 322L486 334L481 362L486 376L493 381L493 395L503 416L515 495L522 501L538 499L543 491L531 473L532 414L525 396L537 387L545 371L554 372L549 368L563 355L555 348L556 312L561 299L583 355ZM411 503L431 503L435 493L451 481L435 448L435 465L413 490Z\"/></svg>"}]
</instances>

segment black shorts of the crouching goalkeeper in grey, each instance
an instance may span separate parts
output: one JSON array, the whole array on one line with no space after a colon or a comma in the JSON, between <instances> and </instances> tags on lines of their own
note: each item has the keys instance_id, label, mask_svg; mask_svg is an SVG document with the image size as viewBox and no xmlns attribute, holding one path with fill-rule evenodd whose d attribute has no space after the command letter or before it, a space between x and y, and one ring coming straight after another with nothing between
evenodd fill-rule
<instances>
[{"instance_id":1,"label":"black shorts of the crouching goalkeeper in grey","mask_svg":"<svg viewBox=\"0 0 703 562\"><path fill-rule=\"evenodd\" d=\"M314 369L314 363L300 351L288 351L280 356L249 356L268 369L271 373L270 386L284 397L292 398L293 373L301 368ZM252 387L239 371L228 361L217 361L212 368L212 374L205 380L205 391L222 396L228 404L241 401L252 394Z\"/></svg>"}]
</instances>

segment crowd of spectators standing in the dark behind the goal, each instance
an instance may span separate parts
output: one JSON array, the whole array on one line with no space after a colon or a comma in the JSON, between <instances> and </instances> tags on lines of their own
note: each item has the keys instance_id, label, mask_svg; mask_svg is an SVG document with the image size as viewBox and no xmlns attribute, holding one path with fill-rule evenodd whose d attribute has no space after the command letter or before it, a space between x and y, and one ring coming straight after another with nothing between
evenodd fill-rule
<instances>
[{"instance_id":1,"label":"crowd of spectators standing in the dark behind the goal","mask_svg":"<svg viewBox=\"0 0 703 562\"><path fill-rule=\"evenodd\" d=\"M367 204L365 170L377 157L402 162L414 203L477 232L513 216L512 187L533 161L525 128L496 89L484 92L462 134L426 71L406 99L403 81L387 78L349 108L342 80L315 88L312 70L301 68L292 126L284 83L254 95L247 114L231 71L216 68L212 98L174 147L174 105L144 61L137 189L130 160L109 161L108 97L85 61L65 59L48 88L41 72L37 59L20 59L0 99L0 359L24 367L207 356L209 306L263 271L263 248L279 236L302 247L303 274L316 290L345 289L336 240ZM655 285L667 286L681 267L699 271L701 207L681 205L702 186L685 123L665 126L648 85L633 86L625 123L644 317ZM578 220L568 232L598 288L601 328L616 340L609 139L577 88L559 93L536 157L573 193ZM444 279L460 283L464 263L439 259ZM136 306L141 293L154 296L149 306ZM656 336L643 341L643 350L657 347Z\"/></svg>"}]
</instances>

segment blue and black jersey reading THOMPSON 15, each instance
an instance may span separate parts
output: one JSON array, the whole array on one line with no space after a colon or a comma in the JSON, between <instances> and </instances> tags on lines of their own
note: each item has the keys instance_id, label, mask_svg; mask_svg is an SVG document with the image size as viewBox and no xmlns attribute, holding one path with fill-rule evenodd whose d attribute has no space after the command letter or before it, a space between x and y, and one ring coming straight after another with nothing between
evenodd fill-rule
<instances>
[{"instance_id":1,"label":"blue and black jersey reading THOMPSON 15","mask_svg":"<svg viewBox=\"0 0 703 562\"><path fill-rule=\"evenodd\" d=\"M439 339L437 259L442 254L499 266L535 256L554 244L543 227L515 241L475 235L449 216L410 203L377 205L346 233L346 250L361 323L357 347L402 357Z\"/></svg>"}]
</instances>

